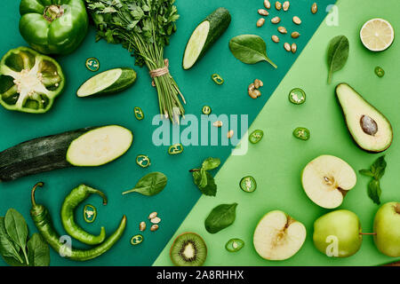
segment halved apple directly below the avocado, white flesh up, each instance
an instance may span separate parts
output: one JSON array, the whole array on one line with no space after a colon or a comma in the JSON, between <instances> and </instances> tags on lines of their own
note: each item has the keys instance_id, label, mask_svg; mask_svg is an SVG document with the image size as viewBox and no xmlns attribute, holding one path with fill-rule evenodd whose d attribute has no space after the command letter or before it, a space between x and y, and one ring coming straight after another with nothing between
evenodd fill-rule
<instances>
[{"instance_id":1,"label":"halved apple directly below the avocado, white flesh up","mask_svg":"<svg viewBox=\"0 0 400 284\"><path fill-rule=\"evenodd\" d=\"M308 162L301 176L309 199L326 209L339 207L356 180L356 172L347 162L326 154Z\"/></svg>"}]
</instances>

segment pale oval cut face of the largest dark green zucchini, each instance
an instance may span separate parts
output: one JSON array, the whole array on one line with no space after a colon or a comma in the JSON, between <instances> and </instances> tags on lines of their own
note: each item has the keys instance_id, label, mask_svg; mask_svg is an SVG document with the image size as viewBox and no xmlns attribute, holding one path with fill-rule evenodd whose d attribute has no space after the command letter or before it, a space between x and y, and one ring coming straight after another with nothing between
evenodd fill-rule
<instances>
[{"instance_id":1,"label":"pale oval cut face of the largest dark green zucchini","mask_svg":"<svg viewBox=\"0 0 400 284\"><path fill-rule=\"evenodd\" d=\"M68 147L67 161L77 167L96 167L116 160L132 145L132 132L118 125L91 130Z\"/></svg>"}]
</instances>

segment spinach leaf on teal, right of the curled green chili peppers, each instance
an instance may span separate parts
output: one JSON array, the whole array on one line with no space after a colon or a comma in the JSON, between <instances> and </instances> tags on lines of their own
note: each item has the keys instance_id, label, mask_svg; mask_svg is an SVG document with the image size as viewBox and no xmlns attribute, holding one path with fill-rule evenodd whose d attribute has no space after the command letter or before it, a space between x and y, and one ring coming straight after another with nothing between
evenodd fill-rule
<instances>
[{"instance_id":1,"label":"spinach leaf on teal, right of the curled green chili peppers","mask_svg":"<svg viewBox=\"0 0 400 284\"><path fill-rule=\"evenodd\" d=\"M139 182L131 190L124 192L127 193L140 193L147 196L153 196L161 193L167 184L167 177L161 172L152 172L148 175L141 177Z\"/></svg>"}]
</instances>

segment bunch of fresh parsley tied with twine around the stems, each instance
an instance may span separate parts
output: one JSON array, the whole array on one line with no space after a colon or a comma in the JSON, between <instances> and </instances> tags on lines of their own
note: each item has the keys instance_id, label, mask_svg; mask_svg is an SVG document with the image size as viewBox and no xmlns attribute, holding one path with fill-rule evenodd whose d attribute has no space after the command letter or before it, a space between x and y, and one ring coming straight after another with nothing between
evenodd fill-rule
<instances>
[{"instance_id":1,"label":"bunch of fresh parsley tied with twine around the stems","mask_svg":"<svg viewBox=\"0 0 400 284\"><path fill-rule=\"evenodd\" d=\"M175 0L85 0L97 28L96 41L121 43L132 52L136 65L156 70L165 67L164 46L176 31L179 19ZM185 110L177 83L167 73L153 78L160 114L180 122Z\"/></svg>"}]
</instances>

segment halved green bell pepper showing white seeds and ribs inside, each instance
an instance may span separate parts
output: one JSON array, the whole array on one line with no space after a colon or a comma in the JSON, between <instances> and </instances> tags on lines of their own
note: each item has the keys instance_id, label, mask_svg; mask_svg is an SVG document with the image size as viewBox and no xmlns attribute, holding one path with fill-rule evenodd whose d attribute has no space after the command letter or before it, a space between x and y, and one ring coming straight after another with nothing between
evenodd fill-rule
<instances>
[{"instance_id":1,"label":"halved green bell pepper showing white seeds and ribs inside","mask_svg":"<svg viewBox=\"0 0 400 284\"><path fill-rule=\"evenodd\" d=\"M0 61L0 104L6 109L43 114L64 84L59 63L28 47L8 51Z\"/></svg>"}]
</instances>

